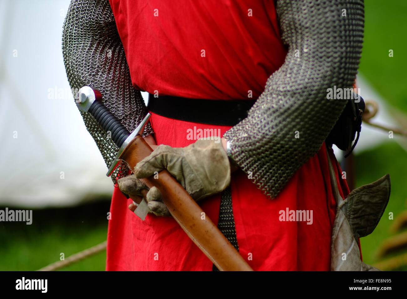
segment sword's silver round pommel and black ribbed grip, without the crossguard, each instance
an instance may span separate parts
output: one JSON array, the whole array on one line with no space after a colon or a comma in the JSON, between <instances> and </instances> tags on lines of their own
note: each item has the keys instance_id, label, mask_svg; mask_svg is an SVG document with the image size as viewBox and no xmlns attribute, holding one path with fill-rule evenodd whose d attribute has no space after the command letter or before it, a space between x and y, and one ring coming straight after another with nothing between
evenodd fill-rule
<instances>
[{"instance_id":1,"label":"sword's silver round pommel and black ribbed grip, without the crossguard","mask_svg":"<svg viewBox=\"0 0 407 299\"><path fill-rule=\"evenodd\" d=\"M101 125L103 130L111 133L113 142L120 148L130 133L120 120L103 105L102 94L90 86L79 89L77 106L79 110L89 112Z\"/></svg>"}]
</instances>

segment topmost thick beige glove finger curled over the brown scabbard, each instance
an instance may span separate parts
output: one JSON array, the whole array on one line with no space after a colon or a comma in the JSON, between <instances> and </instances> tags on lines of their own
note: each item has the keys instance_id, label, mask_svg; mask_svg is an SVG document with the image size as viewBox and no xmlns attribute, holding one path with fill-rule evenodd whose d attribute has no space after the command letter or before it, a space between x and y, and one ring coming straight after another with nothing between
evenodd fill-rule
<instances>
[{"instance_id":1,"label":"topmost thick beige glove finger curled over the brown scabbard","mask_svg":"<svg viewBox=\"0 0 407 299\"><path fill-rule=\"evenodd\" d=\"M134 175L139 179L151 177L155 172L167 168L169 161L171 161L168 156L176 153L177 148L163 144L159 145L149 156L137 163L136 167L134 167Z\"/></svg>"}]
</instances>

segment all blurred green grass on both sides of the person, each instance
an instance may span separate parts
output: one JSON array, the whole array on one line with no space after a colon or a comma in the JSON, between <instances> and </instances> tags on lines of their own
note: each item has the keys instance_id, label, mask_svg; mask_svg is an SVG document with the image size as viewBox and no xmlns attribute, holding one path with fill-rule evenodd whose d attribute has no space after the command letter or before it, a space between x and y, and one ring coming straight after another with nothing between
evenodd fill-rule
<instances>
[{"instance_id":1,"label":"all blurred green grass on both sides of the person","mask_svg":"<svg viewBox=\"0 0 407 299\"><path fill-rule=\"evenodd\" d=\"M407 40L405 13L407 2L400 0L365 1L365 39L360 72L395 109L407 112ZM394 57L389 57L389 49ZM363 133L363 132L362 132ZM377 261L380 244L390 236L394 218L407 209L407 153L394 140L356 156L357 186L370 183L389 173L392 194L385 215L375 231L361 238L363 260ZM11 207L9 207L11 208ZM31 226L21 223L0 223L0 271L37 270L59 260L60 253L69 255L106 240L109 201L70 209L34 211ZM98 253L64 271L103 271L106 253ZM407 270L401 267L400 270Z\"/></svg>"}]
</instances>

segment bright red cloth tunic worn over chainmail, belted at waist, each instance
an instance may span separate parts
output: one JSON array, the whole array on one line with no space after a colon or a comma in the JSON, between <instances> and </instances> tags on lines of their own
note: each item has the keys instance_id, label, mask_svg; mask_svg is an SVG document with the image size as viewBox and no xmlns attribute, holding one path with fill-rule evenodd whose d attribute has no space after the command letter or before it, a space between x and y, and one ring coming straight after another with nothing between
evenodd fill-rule
<instances>
[{"instance_id":1,"label":"bright red cloth tunic worn over chainmail, belted at waist","mask_svg":"<svg viewBox=\"0 0 407 299\"><path fill-rule=\"evenodd\" d=\"M255 100L284 62L274 1L110 0L133 85L150 93ZM182 107L180 107L182 109ZM151 117L157 144L184 147L188 130L210 126ZM340 173L335 159L333 164ZM339 180L344 195L346 181ZM232 176L239 252L254 270L329 270L335 199L325 144L270 200L242 171ZM343 194L342 194L343 195ZM141 221L115 188L107 238L107 270L212 270L212 263L172 218ZM217 223L220 195L201 203ZM282 221L282 212L312 211L311 221Z\"/></svg>"}]
</instances>

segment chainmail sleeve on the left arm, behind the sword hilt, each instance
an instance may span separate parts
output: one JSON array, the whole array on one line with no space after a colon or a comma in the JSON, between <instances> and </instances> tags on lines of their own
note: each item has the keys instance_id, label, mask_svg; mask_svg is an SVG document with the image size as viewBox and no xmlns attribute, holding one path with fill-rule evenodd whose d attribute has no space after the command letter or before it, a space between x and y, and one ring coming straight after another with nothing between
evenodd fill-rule
<instances>
[{"instance_id":1,"label":"chainmail sleeve on the left arm, behind the sword hilt","mask_svg":"<svg viewBox=\"0 0 407 299\"><path fill-rule=\"evenodd\" d=\"M78 89L90 85L103 95L103 103L130 132L147 109L140 91L131 84L123 44L109 0L72 0L63 24L62 53L68 81L77 98ZM112 164L118 148L88 112L81 112L106 165ZM143 136L152 133L150 124ZM124 163L112 180L129 174Z\"/></svg>"}]
</instances>

